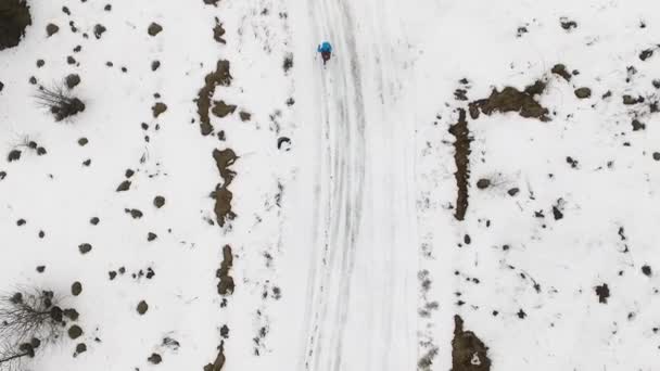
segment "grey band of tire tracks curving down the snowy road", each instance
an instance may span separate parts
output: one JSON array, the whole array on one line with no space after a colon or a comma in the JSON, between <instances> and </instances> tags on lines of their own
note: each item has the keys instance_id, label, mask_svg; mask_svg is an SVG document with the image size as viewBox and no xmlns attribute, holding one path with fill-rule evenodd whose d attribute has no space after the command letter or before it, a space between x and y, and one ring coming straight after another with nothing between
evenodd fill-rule
<instances>
[{"instance_id":1,"label":"grey band of tire tracks curving down the snowy road","mask_svg":"<svg viewBox=\"0 0 660 371\"><path fill-rule=\"evenodd\" d=\"M356 42L346 34L354 30L350 10L343 1L339 8L330 1L310 1L309 7L314 20L320 14L322 20L334 23L320 24L320 34L329 36L342 52L335 53L322 72L326 76L320 93L327 94L321 113L329 143L326 156L330 162L330 193L321 265L316 265L320 277L317 271L312 274L314 308L308 310L313 323L305 369L341 370L364 193L365 112ZM325 180L319 179L321 183Z\"/></svg>"}]
</instances>

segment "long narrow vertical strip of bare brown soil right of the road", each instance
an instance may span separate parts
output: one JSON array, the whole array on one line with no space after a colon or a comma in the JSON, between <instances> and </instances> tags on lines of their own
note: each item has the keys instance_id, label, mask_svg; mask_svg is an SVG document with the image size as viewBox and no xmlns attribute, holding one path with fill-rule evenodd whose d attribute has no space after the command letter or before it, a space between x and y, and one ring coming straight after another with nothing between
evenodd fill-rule
<instances>
[{"instance_id":1,"label":"long narrow vertical strip of bare brown soil right of the road","mask_svg":"<svg viewBox=\"0 0 660 371\"><path fill-rule=\"evenodd\" d=\"M466 120L466 110L458 110L458 121L449 126L449 133L456 138L454 141L454 162L456 163L456 186L458 195L456 197L456 213L454 216L458 220L464 220L468 209L468 181L470 178L470 130Z\"/></svg>"}]
</instances>

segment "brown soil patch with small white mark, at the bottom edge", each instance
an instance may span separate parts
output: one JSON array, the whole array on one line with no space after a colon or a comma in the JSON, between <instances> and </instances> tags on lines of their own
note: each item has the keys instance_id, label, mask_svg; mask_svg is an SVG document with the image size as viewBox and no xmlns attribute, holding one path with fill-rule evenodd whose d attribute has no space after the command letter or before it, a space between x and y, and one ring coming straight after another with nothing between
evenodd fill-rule
<instances>
[{"instance_id":1,"label":"brown soil patch with small white mark, at the bottom edge","mask_svg":"<svg viewBox=\"0 0 660 371\"><path fill-rule=\"evenodd\" d=\"M464 322L459 316L454 316L454 325L452 371L491 370L488 347L472 331L464 331Z\"/></svg>"}]
</instances>

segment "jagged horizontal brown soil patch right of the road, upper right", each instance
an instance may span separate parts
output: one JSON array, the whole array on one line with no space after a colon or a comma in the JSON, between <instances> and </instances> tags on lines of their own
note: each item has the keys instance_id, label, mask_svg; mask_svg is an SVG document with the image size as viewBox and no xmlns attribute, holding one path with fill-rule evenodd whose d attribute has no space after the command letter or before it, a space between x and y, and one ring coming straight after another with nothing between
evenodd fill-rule
<instances>
[{"instance_id":1,"label":"jagged horizontal brown soil patch right of the road, upper right","mask_svg":"<svg viewBox=\"0 0 660 371\"><path fill-rule=\"evenodd\" d=\"M523 91L519 91L512 87L506 87L502 91L493 89L491 97L473 101L469 104L470 116L479 118L479 112L486 115L492 115L494 112L518 112L522 117L537 118L542 121L549 121L548 110L542 106L534 95L543 93L545 82L538 80L534 85L526 87Z\"/></svg>"}]
</instances>

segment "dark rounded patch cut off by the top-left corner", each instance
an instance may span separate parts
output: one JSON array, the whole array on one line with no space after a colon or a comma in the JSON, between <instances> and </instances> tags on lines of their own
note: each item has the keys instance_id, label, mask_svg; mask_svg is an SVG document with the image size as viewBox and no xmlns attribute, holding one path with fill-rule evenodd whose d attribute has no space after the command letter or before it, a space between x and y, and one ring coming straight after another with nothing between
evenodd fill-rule
<instances>
[{"instance_id":1,"label":"dark rounded patch cut off by the top-left corner","mask_svg":"<svg viewBox=\"0 0 660 371\"><path fill-rule=\"evenodd\" d=\"M25 28L31 24L29 7L25 0L0 2L0 50L16 47L25 35Z\"/></svg>"}]
</instances>

